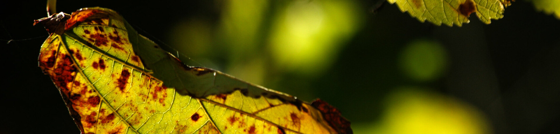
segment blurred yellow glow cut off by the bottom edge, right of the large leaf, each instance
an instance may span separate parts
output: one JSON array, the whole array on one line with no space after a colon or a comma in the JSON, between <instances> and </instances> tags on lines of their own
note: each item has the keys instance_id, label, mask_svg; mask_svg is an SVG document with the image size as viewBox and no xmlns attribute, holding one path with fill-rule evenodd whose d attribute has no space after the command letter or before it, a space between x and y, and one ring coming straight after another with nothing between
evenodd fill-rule
<instances>
[{"instance_id":1,"label":"blurred yellow glow cut off by the bottom edge, right of the large leaf","mask_svg":"<svg viewBox=\"0 0 560 134\"><path fill-rule=\"evenodd\" d=\"M374 133L483 134L488 123L477 108L458 99L401 88L389 95L385 114Z\"/></svg>"}]
</instances>

